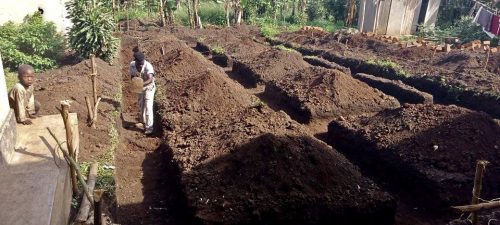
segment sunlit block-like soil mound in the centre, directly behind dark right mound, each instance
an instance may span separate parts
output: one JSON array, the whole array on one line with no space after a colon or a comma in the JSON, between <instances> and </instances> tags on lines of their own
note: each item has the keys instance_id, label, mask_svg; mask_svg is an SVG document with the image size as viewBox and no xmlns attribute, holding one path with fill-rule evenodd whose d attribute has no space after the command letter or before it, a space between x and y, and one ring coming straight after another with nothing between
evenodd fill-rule
<instances>
[{"instance_id":1,"label":"sunlit block-like soil mound in the centre, directly behind dark right mound","mask_svg":"<svg viewBox=\"0 0 500 225\"><path fill-rule=\"evenodd\" d=\"M399 102L377 89L332 69L308 67L269 82L265 93L300 115L300 122L318 118L359 115L399 107Z\"/></svg>"}]
</instances>

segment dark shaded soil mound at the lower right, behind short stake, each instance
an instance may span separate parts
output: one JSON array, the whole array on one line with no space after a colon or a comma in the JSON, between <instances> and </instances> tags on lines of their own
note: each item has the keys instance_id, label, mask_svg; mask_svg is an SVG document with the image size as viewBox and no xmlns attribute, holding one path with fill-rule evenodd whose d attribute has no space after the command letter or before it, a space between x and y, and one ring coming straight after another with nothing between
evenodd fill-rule
<instances>
[{"instance_id":1,"label":"dark shaded soil mound at the lower right, behind short stake","mask_svg":"<svg viewBox=\"0 0 500 225\"><path fill-rule=\"evenodd\" d=\"M431 207L471 199L476 160L488 160L482 197L498 197L500 126L457 106L404 105L373 117L333 121L330 142L393 186L422 194ZM416 185L416 186L415 186Z\"/></svg>"}]
</instances>

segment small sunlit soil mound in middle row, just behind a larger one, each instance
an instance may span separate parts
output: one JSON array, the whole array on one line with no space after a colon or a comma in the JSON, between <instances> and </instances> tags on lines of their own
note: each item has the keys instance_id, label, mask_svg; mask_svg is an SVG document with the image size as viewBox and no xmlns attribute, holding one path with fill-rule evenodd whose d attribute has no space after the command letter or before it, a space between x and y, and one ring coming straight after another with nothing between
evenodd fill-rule
<instances>
[{"instance_id":1,"label":"small sunlit soil mound in middle row, just behind a larger one","mask_svg":"<svg viewBox=\"0 0 500 225\"><path fill-rule=\"evenodd\" d=\"M246 86L286 77L310 65L297 53L269 49L259 55L237 59L233 64L233 74Z\"/></svg>"}]
</instances>

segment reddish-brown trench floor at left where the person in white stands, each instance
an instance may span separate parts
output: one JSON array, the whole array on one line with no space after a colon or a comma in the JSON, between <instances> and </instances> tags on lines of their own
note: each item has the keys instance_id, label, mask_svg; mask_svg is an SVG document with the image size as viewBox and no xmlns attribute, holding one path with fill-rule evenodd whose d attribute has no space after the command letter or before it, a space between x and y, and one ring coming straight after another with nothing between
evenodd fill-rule
<instances>
[{"instance_id":1,"label":"reddish-brown trench floor at left where the person in white stands","mask_svg":"<svg viewBox=\"0 0 500 225\"><path fill-rule=\"evenodd\" d=\"M130 93L128 60L135 40L122 41L122 126L116 152L117 221L120 224L187 224L189 210L180 188L178 168L162 145L161 132L145 136L135 128L137 95ZM157 120L158 121L158 120Z\"/></svg>"}]
</instances>

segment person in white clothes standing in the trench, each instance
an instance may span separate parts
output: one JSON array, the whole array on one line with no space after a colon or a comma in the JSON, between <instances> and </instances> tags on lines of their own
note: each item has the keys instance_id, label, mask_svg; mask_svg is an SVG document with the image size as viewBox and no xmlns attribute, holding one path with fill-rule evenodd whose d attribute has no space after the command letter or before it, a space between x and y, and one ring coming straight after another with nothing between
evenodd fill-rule
<instances>
[{"instance_id":1,"label":"person in white clothes standing in the trench","mask_svg":"<svg viewBox=\"0 0 500 225\"><path fill-rule=\"evenodd\" d=\"M153 133L153 101L156 91L154 80L154 69L151 63L145 60L144 53L140 51L134 52L134 61L130 63L129 74L134 78L143 80L142 92L139 96L139 118L141 123L136 124L137 127L144 127L144 134Z\"/></svg>"}]
</instances>

